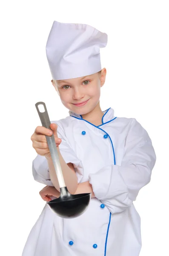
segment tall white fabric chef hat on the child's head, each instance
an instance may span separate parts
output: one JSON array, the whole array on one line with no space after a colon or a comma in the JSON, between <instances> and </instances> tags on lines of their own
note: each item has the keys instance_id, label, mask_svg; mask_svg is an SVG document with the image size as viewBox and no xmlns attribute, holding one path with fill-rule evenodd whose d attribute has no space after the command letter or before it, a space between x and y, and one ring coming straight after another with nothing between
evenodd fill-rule
<instances>
[{"instance_id":1,"label":"tall white fabric chef hat on the child's head","mask_svg":"<svg viewBox=\"0 0 169 256\"><path fill-rule=\"evenodd\" d=\"M99 72L100 48L106 44L107 34L92 26L54 21L46 43L52 79L72 79Z\"/></svg>"}]
</instances>

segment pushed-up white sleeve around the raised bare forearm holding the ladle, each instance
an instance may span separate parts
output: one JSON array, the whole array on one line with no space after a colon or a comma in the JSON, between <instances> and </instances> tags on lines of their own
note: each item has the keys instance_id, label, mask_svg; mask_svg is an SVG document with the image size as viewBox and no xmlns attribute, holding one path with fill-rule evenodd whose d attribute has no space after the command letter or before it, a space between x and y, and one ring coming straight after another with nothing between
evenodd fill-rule
<instances>
[{"instance_id":1,"label":"pushed-up white sleeve around the raised bare forearm holding the ladle","mask_svg":"<svg viewBox=\"0 0 169 256\"><path fill-rule=\"evenodd\" d=\"M59 145L60 153L66 163L73 163L75 171L78 172L78 169L81 169L79 172L79 175L80 175L83 169L81 165L81 161L77 158L73 149L69 145L69 142L63 130L59 127L58 123L57 123L57 126L58 126L57 135L59 138L62 139L62 142ZM37 182L43 183L47 186L54 186L50 179L48 162L46 160L46 157L37 155L37 157L33 160L33 163L32 163L32 174L33 174L34 180L36 180Z\"/></svg>"}]
</instances>

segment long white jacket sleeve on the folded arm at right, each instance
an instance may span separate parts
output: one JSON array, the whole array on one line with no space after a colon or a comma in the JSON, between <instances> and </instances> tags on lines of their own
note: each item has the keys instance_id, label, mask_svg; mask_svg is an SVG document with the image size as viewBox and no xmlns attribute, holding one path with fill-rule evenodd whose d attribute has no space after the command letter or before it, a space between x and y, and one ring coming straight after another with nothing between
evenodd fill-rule
<instances>
[{"instance_id":1,"label":"long white jacket sleeve on the folded arm at right","mask_svg":"<svg viewBox=\"0 0 169 256\"><path fill-rule=\"evenodd\" d=\"M112 213L124 211L136 200L139 190L150 182L155 161L148 133L132 119L121 165L108 165L89 175L95 197Z\"/></svg>"}]
</instances>

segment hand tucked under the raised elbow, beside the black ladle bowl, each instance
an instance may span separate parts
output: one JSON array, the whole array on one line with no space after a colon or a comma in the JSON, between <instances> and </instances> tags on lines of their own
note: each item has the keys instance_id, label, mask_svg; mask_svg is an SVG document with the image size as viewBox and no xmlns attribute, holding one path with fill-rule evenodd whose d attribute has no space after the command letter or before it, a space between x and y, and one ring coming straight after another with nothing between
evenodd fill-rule
<instances>
[{"instance_id":1,"label":"hand tucked under the raised elbow, beside the black ladle bowl","mask_svg":"<svg viewBox=\"0 0 169 256\"><path fill-rule=\"evenodd\" d=\"M55 198L60 197L60 192L57 191L57 189L55 189L55 187L53 186L44 187L42 190L40 190L39 194L41 198L46 202L49 202L52 200L51 196L54 196Z\"/></svg>"}]
</instances>

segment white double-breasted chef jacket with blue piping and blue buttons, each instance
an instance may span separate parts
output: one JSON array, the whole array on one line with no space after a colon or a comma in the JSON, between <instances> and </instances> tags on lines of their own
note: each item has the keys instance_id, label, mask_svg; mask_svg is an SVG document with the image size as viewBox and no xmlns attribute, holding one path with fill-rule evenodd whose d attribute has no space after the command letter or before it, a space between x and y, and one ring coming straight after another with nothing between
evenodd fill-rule
<instances>
[{"instance_id":1,"label":"white double-breasted chef jacket with blue piping and blue buttons","mask_svg":"<svg viewBox=\"0 0 169 256\"><path fill-rule=\"evenodd\" d=\"M57 216L46 204L22 256L139 255L140 216L133 201L151 179L155 151L136 119L115 117L112 108L103 114L99 126L72 111L54 121L63 159L73 163L78 183L92 184L95 198L71 219ZM53 186L46 157L37 155L32 172L36 181Z\"/></svg>"}]
</instances>

